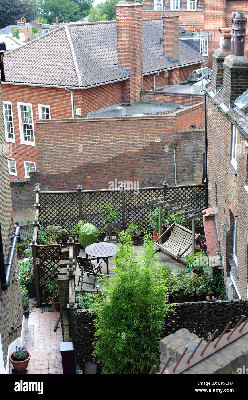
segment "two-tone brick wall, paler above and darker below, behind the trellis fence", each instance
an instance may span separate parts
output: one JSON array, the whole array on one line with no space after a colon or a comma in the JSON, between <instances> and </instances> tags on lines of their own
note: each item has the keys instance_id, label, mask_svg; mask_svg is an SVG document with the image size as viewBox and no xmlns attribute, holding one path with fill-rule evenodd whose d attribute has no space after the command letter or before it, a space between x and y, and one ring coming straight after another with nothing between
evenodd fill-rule
<instances>
[{"instance_id":1,"label":"two-tone brick wall, paler above and darker below, behind the trellis fence","mask_svg":"<svg viewBox=\"0 0 248 400\"><path fill-rule=\"evenodd\" d=\"M39 121L41 172L32 173L30 180L40 182L42 189L54 190L74 190L76 183L85 190L108 188L115 178L139 180L143 187L157 186L163 180L173 184L177 137L177 182L193 180L192 158L188 157L193 156L192 145L201 146L202 135L191 131L180 136L177 130L192 124L199 129L202 110L203 103L169 115ZM51 153L54 141L57 147Z\"/></svg>"}]
</instances>

